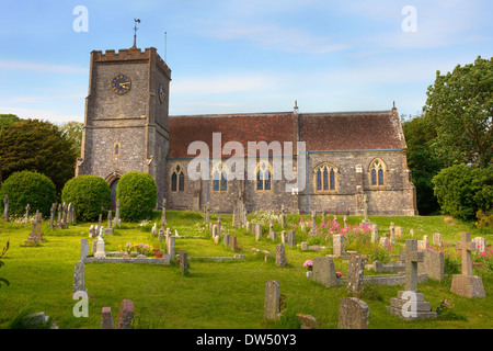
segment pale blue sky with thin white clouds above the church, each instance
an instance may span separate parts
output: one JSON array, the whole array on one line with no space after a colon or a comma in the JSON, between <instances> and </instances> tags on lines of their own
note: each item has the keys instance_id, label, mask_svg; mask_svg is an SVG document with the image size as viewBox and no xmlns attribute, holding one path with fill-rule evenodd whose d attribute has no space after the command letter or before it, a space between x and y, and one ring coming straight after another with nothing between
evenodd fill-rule
<instances>
[{"instance_id":1,"label":"pale blue sky with thin white clouds above the church","mask_svg":"<svg viewBox=\"0 0 493 351\"><path fill-rule=\"evenodd\" d=\"M0 11L0 114L57 124L83 122L90 53L131 47L135 19L137 46L172 70L170 115L394 101L414 116L437 71L493 56L491 0L1 0Z\"/></svg>"}]
</instances>

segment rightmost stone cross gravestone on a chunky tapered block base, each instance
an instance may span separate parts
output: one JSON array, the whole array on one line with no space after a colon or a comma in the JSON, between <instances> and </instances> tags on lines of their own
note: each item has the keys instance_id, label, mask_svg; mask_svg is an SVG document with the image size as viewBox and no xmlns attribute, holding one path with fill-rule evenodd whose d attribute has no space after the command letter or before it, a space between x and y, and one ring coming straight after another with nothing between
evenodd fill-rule
<instances>
[{"instance_id":1,"label":"rightmost stone cross gravestone on a chunky tapered block base","mask_svg":"<svg viewBox=\"0 0 493 351\"><path fill-rule=\"evenodd\" d=\"M475 244L471 241L470 233L461 233L462 241L456 244L461 251L462 274L455 274L450 291L466 297L486 297L481 276L472 275L471 252L475 251Z\"/></svg>"}]
</instances>

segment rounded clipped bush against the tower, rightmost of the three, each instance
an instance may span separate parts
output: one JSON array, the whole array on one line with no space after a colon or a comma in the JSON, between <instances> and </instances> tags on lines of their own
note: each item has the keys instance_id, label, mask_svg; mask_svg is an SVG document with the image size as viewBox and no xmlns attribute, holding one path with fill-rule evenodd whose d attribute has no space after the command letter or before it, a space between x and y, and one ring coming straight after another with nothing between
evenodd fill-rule
<instances>
[{"instance_id":1,"label":"rounded clipped bush against the tower, rightmost of the three","mask_svg":"<svg viewBox=\"0 0 493 351\"><path fill-rule=\"evenodd\" d=\"M119 179L116 199L119 199L119 214L123 219L147 219L156 207L158 186L149 173L129 172Z\"/></svg>"}]
</instances>

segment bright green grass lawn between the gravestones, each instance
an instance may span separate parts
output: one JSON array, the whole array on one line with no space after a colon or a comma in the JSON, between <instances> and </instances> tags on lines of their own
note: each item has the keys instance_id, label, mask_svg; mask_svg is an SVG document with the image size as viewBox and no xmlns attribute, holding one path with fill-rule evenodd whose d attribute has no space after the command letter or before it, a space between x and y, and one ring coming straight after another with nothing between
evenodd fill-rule
<instances>
[{"instance_id":1,"label":"bright green grass lawn between the gravestones","mask_svg":"<svg viewBox=\"0 0 493 351\"><path fill-rule=\"evenodd\" d=\"M253 215L249 215L249 219ZM309 239L308 234L299 229L299 219L308 222L310 216L287 216L289 228L298 225L297 244ZM321 216L318 216L320 220ZM332 217L331 217L332 218ZM180 236L202 236L200 238L177 238L176 252L187 251L188 274L183 275L176 263L171 265L129 264L129 263L87 263L84 270L85 287L89 293L89 317L77 318L72 308L74 264L80 257L80 242L88 238L90 223L76 224L69 229L50 230L44 220L42 234L44 241L37 247L24 246L31 231L31 223L0 222L0 249L10 240L10 249L3 257L0 278L10 285L0 286L0 328L11 328L13 320L25 313L45 312L60 329L99 329L102 307L112 307L116 320L122 299L134 302L134 328L140 329L265 329L299 328L296 314L312 315L321 328L337 328L340 298L349 296L345 286L325 288L306 278L303 262L317 256L332 253L329 247L323 251L301 251L300 247L286 246L288 267L278 268L275 259L264 261L263 256L254 254L252 248L268 250L275 256L275 245L280 242L266 238L255 241L252 234L242 228L232 228L231 215L221 215L222 233L237 235L238 245L245 254L244 260L215 262L193 260L193 258L232 257L222 242L214 244L202 214L168 211L168 224L172 234L176 229ZM211 215L216 220L217 215ZM362 217L348 216L349 224L359 223ZM422 239L434 233L440 233L443 240L456 244L461 231L471 231L472 237L482 236L491 244L493 234L478 230L444 216L416 217L370 217L385 234L391 222L402 227L403 236L394 246L392 254L398 254L405 239ZM337 218L342 223L342 217ZM158 237L152 237L150 228L157 222L160 226L160 213L148 225L124 223L114 235L105 236L105 249L118 251L126 242L142 242L159 246ZM103 223L105 225L105 223ZM280 225L274 229L280 231ZM311 239L311 238L310 238ZM90 248L92 247L90 239ZM162 244L161 244L162 245ZM352 247L362 254L371 253L372 247ZM335 268L347 274L347 262L334 260ZM372 274L366 272L365 274ZM419 285L425 301L435 310L440 301L452 298L454 312L459 318L451 320L404 321L387 312L390 298L397 297L403 286L366 285L359 296L369 306L369 328L372 329L491 329L493 328L493 273L491 269L475 270L482 278L486 292L485 298L466 298L450 292L451 275L445 281L428 280ZM267 280L275 280L285 296L283 317L278 321L263 321L264 290Z\"/></svg>"}]
</instances>

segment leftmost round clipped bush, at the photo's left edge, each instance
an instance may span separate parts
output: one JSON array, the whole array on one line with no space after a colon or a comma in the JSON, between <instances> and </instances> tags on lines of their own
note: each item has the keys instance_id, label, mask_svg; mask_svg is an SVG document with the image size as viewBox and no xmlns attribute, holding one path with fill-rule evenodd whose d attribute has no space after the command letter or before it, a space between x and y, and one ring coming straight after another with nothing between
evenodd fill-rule
<instances>
[{"instance_id":1,"label":"leftmost round clipped bush, at the photo's left edge","mask_svg":"<svg viewBox=\"0 0 493 351\"><path fill-rule=\"evenodd\" d=\"M51 204L57 202L53 181L45 174L31 171L12 173L0 188L0 207L3 214L3 197L9 195L9 216L22 217L30 204L33 214L38 210L44 217L49 215Z\"/></svg>"}]
</instances>

